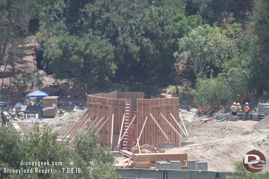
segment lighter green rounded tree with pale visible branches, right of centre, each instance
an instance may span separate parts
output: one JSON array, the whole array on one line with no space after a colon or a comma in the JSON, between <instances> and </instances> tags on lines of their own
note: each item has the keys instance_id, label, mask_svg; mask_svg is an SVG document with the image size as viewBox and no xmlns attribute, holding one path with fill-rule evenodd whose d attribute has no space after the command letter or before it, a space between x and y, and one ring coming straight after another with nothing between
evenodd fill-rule
<instances>
[{"instance_id":1,"label":"lighter green rounded tree with pale visible branches, right of centre","mask_svg":"<svg viewBox=\"0 0 269 179\"><path fill-rule=\"evenodd\" d=\"M179 51L174 53L176 65L187 63L196 79L214 75L214 68L222 68L224 59L231 56L232 43L219 28L199 26L188 36L179 39Z\"/></svg>"}]
</instances>

